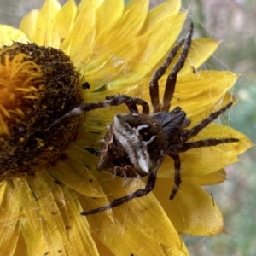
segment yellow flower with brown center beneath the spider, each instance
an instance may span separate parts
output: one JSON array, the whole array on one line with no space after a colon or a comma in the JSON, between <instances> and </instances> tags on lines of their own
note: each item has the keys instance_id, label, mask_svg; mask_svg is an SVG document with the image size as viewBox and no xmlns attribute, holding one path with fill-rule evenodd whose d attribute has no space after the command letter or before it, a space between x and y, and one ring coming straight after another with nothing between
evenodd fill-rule
<instances>
[{"instance_id":1,"label":"yellow flower with brown center beneath the spider","mask_svg":"<svg viewBox=\"0 0 256 256\"><path fill-rule=\"evenodd\" d=\"M101 147L106 125L127 109L100 108L71 119L67 127L48 129L82 100L120 93L149 102L149 79L183 28L186 14L179 10L177 0L149 12L145 0L127 5L82 0L78 6L70 0L63 7L47 0L23 18L20 29L0 26L1 44L12 45L1 50L0 67L3 255L187 255L180 233L223 231L221 212L200 186L224 181L224 166L251 146L241 133L216 124L202 131L200 137L240 142L181 154L183 183L173 201L173 162L166 158L153 193L85 218L79 212L144 186L141 180L124 184L122 177L96 170L93 153ZM194 40L177 79L172 108L182 107L194 124L230 101L227 90L237 79L230 72L193 72L191 67L200 67L217 45L208 38ZM160 91L165 80L166 75ZM81 88L84 81L90 90Z\"/></svg>"}]
</instances>

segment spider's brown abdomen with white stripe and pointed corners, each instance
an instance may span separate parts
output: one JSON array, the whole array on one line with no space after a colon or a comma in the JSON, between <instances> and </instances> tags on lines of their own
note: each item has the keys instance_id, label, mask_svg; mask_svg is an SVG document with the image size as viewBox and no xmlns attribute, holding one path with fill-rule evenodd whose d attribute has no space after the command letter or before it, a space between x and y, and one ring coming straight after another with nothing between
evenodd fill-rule
<instances>
[{"instance_id":1,"label":"spider's brown abdomen with white stripe and pointed corners","mask_svg":"<svg viewBox=\"0 0 256 256\"><path fill-rule=\"evenodd\" d=\"M98 164L123 177L147 176L160 165L166 152L166 137L160 124L146 114L118 114L113 119Z\"/></svg>"}]
</instances>

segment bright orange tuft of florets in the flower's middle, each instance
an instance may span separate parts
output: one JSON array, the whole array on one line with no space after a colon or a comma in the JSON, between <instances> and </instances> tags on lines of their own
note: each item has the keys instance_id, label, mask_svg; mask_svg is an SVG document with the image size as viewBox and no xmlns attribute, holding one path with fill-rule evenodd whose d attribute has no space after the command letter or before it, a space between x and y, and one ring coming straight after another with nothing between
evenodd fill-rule
<instances>
[{"instance_id":1,"label":"bright orange tuft of florets in the flower's middle","mask_svg":"<svg viewBox=\"0 0 256 256\"><path fill-rule=\"evenodd\" d=\"M22 101L38 99L35 84L42 84L43 73L30 56L12 56L6 49L1 49L0 55L0 132L10 135L8 124L12 116L15 119L15 115L24 115Z\"/></svg>"}]
</instances>

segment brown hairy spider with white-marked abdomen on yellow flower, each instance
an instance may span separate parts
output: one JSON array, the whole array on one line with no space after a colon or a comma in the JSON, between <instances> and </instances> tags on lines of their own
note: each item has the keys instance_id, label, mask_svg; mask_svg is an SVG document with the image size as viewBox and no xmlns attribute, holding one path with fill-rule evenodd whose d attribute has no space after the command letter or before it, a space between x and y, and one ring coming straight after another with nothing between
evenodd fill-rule
<instances>
[{"instance_id":1,"label":"brown hairy spider with white-marked abdomen on yellow flower","mask_svg":"<svg viewBox=\"0 0 256 256\"><path fill-rule=\"evenodd\" d=\"M57 119L52 124L55 125L62 119L67 119L83 111L118 106L123 103L130 110L130 113L114 116L113 123L110 125L102 143L102 153L97 169L108 171L121 177L148 176L145 188L138 189L130 195L115 199L103 207L81 212L81 215L103 212L137 197L147 195L154 189L157 170L166 154L174 160L174 186L170 195L170 199L173 199L182 182L179 153L193 148L216 146L222 143L235 143L239 141L237 138L231 137L188 142L190 138L195 137L214 119L217 119L221 113L229 109L232 102L228 103L224 108L211 113L206 119L201 120L198 125L195 125L191 129L186 129L190 124L190 120L186 117L186 113L183 112L182 108L176 107L170 111L177 81L177 73L183 68L188 56L193 30L193 23L191 23L187 37L172 48L166 60L153 74L149 83L153 114L149 114L148 102L144 102L142 99L125 95L108 96L106 97L106 101L88 103L74 108L71 112L61 117L61 119ZM160 103L159 79L166 73L167 67L169 67L174 56L177 55L177 50L181 47L183 49L179 59L172 67L172 71L166 79L166 88L162 103ZM137 105L142 106L142 113L138 112Z\"/></svg>"}]
</instances>

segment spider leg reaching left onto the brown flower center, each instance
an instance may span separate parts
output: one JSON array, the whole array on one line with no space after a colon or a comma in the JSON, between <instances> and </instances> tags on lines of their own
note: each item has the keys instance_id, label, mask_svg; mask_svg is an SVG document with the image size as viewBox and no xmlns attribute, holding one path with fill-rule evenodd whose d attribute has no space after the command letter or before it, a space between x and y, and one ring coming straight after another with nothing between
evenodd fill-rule
<instances>
[{"instance_id":1,"label":"spider leg reaching left onto the brown flower center","mask_svg":"<svg viewBox=\"0 0 256 256\"><path fill-rule=\"evenodd\" d=\"M70 112L64 114L60 119L55 120L54 123L49 125L49 129L53 126L57 125L61 121L65 119L69 119L73 116L79 115L85 111L91 111L96 108L104 108L110 106L119 106L121 104L125 104L131 113L138 113L137 105L141 105L143 107L143 113L149 113L149 106L147 102L144 102L138 98L132 98L130 96L120 95L120 96L107 96L106 101L103 102L92 102L86 103L84 105L80 105L78 108L73 108Z\"/></svg>"}]
</instances>

